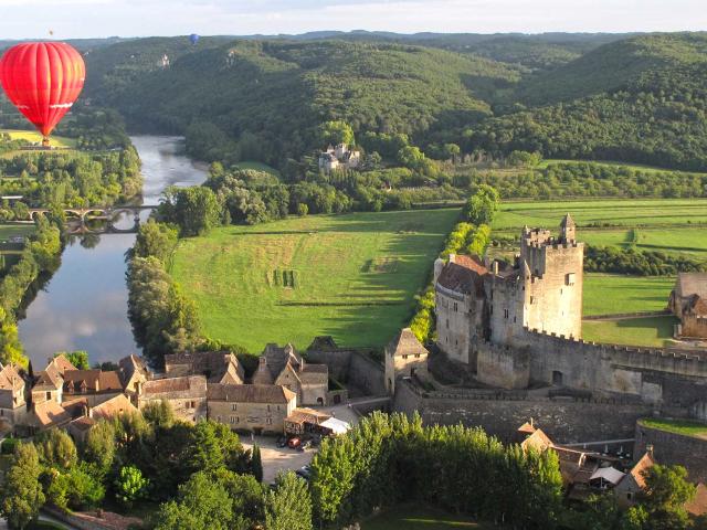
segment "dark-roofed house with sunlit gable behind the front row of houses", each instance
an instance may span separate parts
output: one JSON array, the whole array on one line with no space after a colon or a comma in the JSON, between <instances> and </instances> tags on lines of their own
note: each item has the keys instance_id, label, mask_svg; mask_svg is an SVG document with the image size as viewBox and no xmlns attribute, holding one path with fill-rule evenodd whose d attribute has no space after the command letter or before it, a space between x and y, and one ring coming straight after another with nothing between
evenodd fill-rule
<instances>
[{"instance_id":1,"label":"dark-roofed house with sunlit gable behind the front row of houses","mask_svg":"<svg viewBox=\"0 0 707 530\"><path fill-rule=\"evenodd\" d=\"M204 375L210 383L243 384L245 373L230 351L181 352L165 356L167 378Z\"/></svg>"}]
</instances>

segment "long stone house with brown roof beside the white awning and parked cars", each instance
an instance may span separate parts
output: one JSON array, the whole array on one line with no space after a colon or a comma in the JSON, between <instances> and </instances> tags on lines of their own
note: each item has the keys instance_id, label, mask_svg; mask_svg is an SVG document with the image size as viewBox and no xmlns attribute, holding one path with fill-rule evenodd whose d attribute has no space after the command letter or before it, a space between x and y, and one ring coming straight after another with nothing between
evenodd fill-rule
<instances>
[{"instance_id":1,"label":"long stone house with brown roof beside the white awning and parked cars","mask_svg":"<svg viewBox=\"0 0 707 530\"><path fill-rule=\"evenodd\" d=\"M255 434L284 433L297 406L297 395L276 384L209 384L207 401L211 420Z\"/></svg>"}]
</instances>

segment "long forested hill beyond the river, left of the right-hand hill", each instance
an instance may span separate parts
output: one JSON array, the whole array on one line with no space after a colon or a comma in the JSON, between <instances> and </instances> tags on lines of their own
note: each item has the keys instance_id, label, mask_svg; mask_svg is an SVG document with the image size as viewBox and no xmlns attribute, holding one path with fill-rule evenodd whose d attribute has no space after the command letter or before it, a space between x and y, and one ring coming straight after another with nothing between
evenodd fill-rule
<instances>
[{"instance_id":1,"label":"long forested hill beyond the river, left of the right-hand hill","mask_svg":"<svg viewBox=\"0 0 707 530\"><path fill-rule=\"evenodd\" d=\"M394 43L211 44L149 39L96 50L86 56L86 96L133 127L183 134L208 121L233 140L254 136L271 151L258 159L277 165L317 147L313 135L325 120L410 135L439 121L477 121L490 115L495 92L519 78L483 57Z\"/></svg>"}]
</instances>

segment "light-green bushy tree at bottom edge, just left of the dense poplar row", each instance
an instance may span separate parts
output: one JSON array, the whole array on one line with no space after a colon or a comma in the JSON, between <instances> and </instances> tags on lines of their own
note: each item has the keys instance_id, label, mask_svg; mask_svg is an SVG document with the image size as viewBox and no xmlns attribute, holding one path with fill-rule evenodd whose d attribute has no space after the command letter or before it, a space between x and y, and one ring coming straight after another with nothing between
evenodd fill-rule
<instances>
[{"instance_id":1,"label":"light-green bushy tree at bottom edge, just left of the dense poplar row","mask_svg":"<svg viewBox=\"0 0 707 530\"><path fill-rule=\"evenodd\" d=\"M307 483L294 473L281 473L275 490L265 494L267 530L312 530L312 498Z\"/></svg>"}]
</instances>

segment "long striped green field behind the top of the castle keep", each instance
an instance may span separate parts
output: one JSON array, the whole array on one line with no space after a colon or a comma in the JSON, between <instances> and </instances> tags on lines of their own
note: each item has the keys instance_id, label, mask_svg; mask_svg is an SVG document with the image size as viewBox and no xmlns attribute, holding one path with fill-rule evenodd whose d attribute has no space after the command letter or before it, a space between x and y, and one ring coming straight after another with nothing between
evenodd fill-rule
<instances>
[{"instance_id":1,"label":"long striped green field behind the top of the castle keep","mask_svg":"<svg viewBox=\"0 0 707 530\"><path fill-rule=\"evenodd\" d=\"M589 233L591 229L588 225L592 224L627 227L685 226L688 223L707 223L707 199L505 202L493 227L495 231L514 230L514 233L526 224L555 230L567 212L577 222L580 235ZM704 227L696 226L693 230Z\"/></svg>"}]
</instances>

